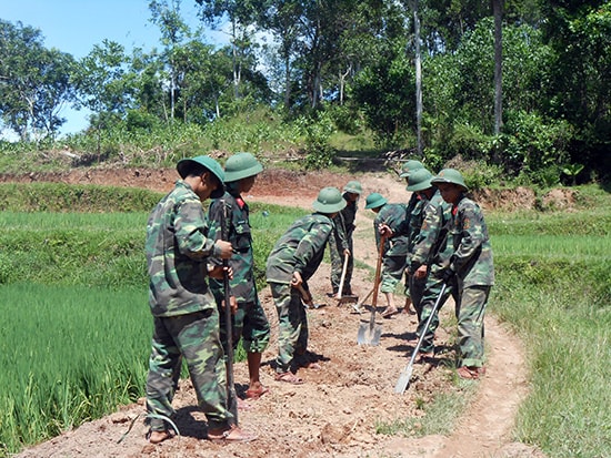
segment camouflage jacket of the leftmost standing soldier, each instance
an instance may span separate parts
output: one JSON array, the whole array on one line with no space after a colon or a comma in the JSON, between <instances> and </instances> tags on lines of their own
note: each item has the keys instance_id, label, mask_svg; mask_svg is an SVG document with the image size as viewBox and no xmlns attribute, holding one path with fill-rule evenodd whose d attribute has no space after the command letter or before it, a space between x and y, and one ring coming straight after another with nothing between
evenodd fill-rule
<instances>
[{"instance_id":1,"label":"camouflage jacket of the leftmost standing soldier","mask_svg":"<svg viewBox=\"0 0 611 458\"><path fill-rule=\"evenodd\" d=\"M154 316L174 316L216 307L206 282L206 261L218 256L201 201L179 180L153 208L147 223L149 305Z\"/></svg>"}]
</instances>

